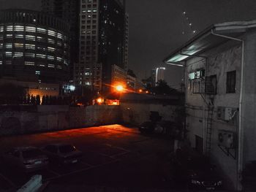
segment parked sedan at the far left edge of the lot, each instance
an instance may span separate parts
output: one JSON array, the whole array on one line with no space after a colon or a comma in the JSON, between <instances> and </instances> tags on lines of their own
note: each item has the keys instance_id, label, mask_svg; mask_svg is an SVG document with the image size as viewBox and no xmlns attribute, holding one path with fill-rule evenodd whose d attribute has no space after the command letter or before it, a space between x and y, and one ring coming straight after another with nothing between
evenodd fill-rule
<instances>
[{"instance_id":1,"label":"parked sedan at the far left edge of the lot","mask_svg":"<svg viewBox=\"0 0 256 192\"><path fill-rule=\"evenodd\" d=\"M33 172L48 166L48 157L37 147L15 147L2 155L4 164L25 172Z\"/></svg>"}]
</instances>

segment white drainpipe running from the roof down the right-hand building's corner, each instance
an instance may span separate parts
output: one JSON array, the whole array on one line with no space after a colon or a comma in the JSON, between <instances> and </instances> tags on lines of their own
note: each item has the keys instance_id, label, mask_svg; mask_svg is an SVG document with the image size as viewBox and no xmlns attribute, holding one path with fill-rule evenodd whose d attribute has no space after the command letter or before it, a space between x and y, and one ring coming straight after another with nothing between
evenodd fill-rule
<instances>
[{"instance_id":1,"label":"white drainpipe running from the roof down the right-hand building's corner","mask_svg":"<svg viewBox=\"0 0 256 192\"><path fill-rule=\"evenodd\" d=\"M244 153L244 131L241 128L241 115L242 115L242 99L243 99L243 86L244 86L244 40L237 39L234 37L228 37L222 34L215 34L213 29L211 30L211 34L223 37L226 39L232 39L242 44L242 58L241 58L241 85L240 85L240 98L239 98L239 126L238 126L238 161L237 161L237 184L236 190L241 191L241 173L243 170L243 153Z\"/></svg>"}]
</instances>

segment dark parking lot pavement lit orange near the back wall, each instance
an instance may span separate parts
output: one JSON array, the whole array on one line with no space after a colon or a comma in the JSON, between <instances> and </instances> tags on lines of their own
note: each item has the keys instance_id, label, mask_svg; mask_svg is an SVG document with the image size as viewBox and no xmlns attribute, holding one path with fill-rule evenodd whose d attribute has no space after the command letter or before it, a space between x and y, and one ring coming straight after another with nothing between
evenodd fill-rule
<instances>
[{"instance_id":1,"label":"dark parking lot pavement lit orange near the back wall","mask_svg":"<svg viewBox=\"0 0 256 192\"><path fill-rule=\"evenodd\" d=\"M48 166L23 173L1 163L0 191L15 191L34 174L49 182L45 191L87 188L176 188L170 177L171 141L146 137L137 128L120 125L79 128L42 134L2 137L0 152L17 146L42 147L66 142L83 152L78 164Z\"/></svg>"}]
</instances>

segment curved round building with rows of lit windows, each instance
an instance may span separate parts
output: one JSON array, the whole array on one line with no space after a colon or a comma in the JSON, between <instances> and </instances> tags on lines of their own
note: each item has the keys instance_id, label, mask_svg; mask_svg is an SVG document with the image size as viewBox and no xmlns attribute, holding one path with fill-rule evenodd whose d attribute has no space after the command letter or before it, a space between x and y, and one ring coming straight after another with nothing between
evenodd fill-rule
<instances>
[{"instance_id":1,"label":"curved round building with rows of lit windows","mask_svg":"<svg viewBox=\"0 0 256 192\"><path fill-rule=\"evenodd\" d=\"M24 9L0 10L0 77L58 83L68 80L69 24Z\"/></svg>"}]
</instances>

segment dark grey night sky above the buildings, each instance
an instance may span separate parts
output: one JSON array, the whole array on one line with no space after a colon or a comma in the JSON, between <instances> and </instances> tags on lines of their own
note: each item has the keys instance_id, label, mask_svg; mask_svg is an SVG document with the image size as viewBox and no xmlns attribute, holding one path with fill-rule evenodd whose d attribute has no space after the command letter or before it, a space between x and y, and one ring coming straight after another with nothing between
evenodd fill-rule
<instances>
[{"instance_id":1,"label":"dark grey night sky above the buildings","mask_svg":"<svg viewBox=\"0 0 256 192\"><path fill-rule=\"evenodd\" d=\"M0 0L0 7L40 9L40 0ZM140 78L156 66L167 67L169 85L178 88L183 70L162 63L170 52L184 45L193 34L214 23L256 20L255 0L127 0L129 14L129 68ZM184 34L182 34L184 31Z\"/></svg>"}]
</instances>

